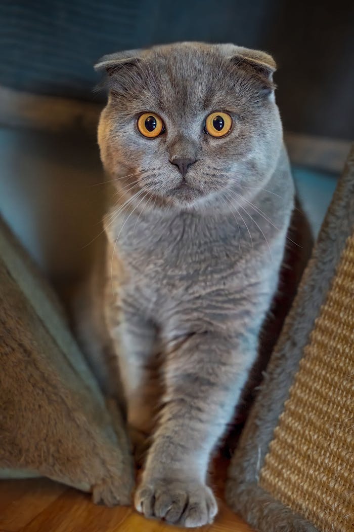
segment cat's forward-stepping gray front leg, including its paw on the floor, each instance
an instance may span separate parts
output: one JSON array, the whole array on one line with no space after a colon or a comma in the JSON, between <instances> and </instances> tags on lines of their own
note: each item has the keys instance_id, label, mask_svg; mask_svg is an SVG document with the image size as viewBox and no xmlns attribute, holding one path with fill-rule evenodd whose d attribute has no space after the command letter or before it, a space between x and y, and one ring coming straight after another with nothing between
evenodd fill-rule
<instances>
[{"instance_id":1,"label":"cat's forward-stepping gray front leg, including its paw on the floor","mask_svg":"<svg viewBox=\"0 0 354 532\"><path fill-rule=\"evenodd\" d=\"M136 509L146 517L197 527L217 503L206 485L210 454L231 419L251 367L254 340L206 332L186 338L166 360L166 396Z\"/></svg>"}]
</instances>

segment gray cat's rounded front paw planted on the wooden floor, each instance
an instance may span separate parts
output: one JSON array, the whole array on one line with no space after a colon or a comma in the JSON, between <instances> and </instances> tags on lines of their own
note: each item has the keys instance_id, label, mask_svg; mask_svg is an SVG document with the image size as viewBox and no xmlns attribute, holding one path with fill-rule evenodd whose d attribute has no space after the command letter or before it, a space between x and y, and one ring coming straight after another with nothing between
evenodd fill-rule
<instances>
[{"instance_id":1,"label":"gray cat's rounded front paw planted on the wooden floor","mask_svg":"<svg viewBox=\"0 0 354 532\"><path fill-rule=\"evenodd\" d=\"M160 479L143 483L137 489L134 503L145 517L157 517L185 527L211 523L218 513L211 489L188 480Z\"/></svg>"}]
</instances>

